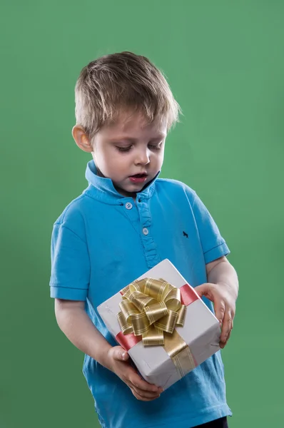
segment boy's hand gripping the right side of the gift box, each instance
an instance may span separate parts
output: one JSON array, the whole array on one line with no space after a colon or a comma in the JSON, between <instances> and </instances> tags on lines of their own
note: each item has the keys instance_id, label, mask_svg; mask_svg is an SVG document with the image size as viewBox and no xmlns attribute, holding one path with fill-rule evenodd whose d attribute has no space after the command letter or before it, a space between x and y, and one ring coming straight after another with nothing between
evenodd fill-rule
<instances>
[{"instance_id":1,"label":"boy's hand gripping the right side of the gift box","mask_svg":"<svg viewBox=\"0 0 284 428\"><path fill-rule=\"evenodd\" d=\"M220 322L220 348L227 345L230 332L233 329L233 319L235 317L235 298L230 292L230 288L225 284L213 284L205 282L194 288L200 297L204 296L214 304L215 317Z\"/></svg>"}]
</instances>

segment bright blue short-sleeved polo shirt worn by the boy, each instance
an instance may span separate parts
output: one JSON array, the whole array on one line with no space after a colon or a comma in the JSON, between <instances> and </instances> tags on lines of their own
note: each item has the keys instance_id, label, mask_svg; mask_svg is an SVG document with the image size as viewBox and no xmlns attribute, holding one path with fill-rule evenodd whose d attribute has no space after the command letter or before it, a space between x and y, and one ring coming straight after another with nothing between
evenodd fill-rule
<instances>
[{"instance_id":1,"label":"bright blue short-sleeved polo shirt worn by the boy","mask_svg":"<svg viewBox=\"0 0 284 428\"><path fill-rule=\"evenodd\" d=\"M154 179L132 198L86 168L88 188L60 215L51 240L51 297L86 301L93 324L115 346L96 307L165 258L193 287L207 282L206 263L230 251L187 185ZM204 300L213 310L213 305ZM88 355L83 373L104 428L191 428L231 415L220 351L152 402L136 399L116 374Z\"/></svg>"}]
</instances>

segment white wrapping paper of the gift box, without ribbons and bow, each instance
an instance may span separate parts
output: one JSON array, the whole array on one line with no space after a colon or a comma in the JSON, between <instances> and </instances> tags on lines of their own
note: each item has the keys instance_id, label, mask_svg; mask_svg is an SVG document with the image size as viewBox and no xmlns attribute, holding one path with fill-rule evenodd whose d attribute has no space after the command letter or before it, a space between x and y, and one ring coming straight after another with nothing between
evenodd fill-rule
<instances>
[{"instance_id":1,"label":"white wrapping paper of the gift box, without ribbons and bow","mask_svg":"<svg viewBox=\"0 0 284 428\"><path fill-rule=\"evenodd\" d=\"M137 279L141 280L145 277L156 280L163 278L163 280L177 288L187 284L176 267L167 259L158 263L158 265ZM126 285L122 284L121 289ZM111 332L111 335L116 340L118 333L121 333L121 327L117 319L118 312L121 311L119 307L121 300L122 295L118 292L98 306L99 315L101 315L108 331ZM219 322L200 298L187 306L184 325L183 327L176 327L176 331L191 350L195 366L200 365L220 349ZM128 350L128 354L143 378L151 384L167 389L181 379L181 374L173 364L173 360L161 345L144 346L141 340ZM191 367L188 372L193 368Z\"/></svg>"}]
</instances>

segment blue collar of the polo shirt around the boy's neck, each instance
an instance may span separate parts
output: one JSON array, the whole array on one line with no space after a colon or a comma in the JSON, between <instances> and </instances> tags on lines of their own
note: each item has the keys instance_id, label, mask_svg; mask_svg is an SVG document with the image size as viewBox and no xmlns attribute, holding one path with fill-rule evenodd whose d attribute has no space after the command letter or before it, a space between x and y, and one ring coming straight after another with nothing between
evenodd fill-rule
<instances>
[{"instance_id":1,"label":"blue collar of the polo shirt around the boy's neck","mask_svg":"<svg viewBox=\"0 0 284 428\"><path fill-rule=\"evenodd\" d=\"M137 198L140 198L141 200L151 198L155 190L156 179L158 178L160 173L161 171L159 171L156 177L153 178L150 183L148 183L145 189L137 193ZM130 199L130 197L126 197L118 193L116 188L114 188L113 186L113 181L111 180L111 178L103 178L97 175L96 165L94 161L89 161L87 163L85 176L89 184L88 188L86 189L86 193L92 198L113 205L121 205L126 199Z\"/></svg>"}]
</instances>

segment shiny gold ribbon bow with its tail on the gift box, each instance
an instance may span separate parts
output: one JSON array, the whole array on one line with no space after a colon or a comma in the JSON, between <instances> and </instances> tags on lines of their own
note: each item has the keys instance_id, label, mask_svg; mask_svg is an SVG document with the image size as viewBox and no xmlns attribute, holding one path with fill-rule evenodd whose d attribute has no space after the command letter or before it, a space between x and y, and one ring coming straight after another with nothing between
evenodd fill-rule
<instances>
[{"instance_id":1,"label":"shiny gold ribbon bow with its tail on the gift box","mask_svg":"<svg viewBox=\"0 0 284 428\"><path fill-rule=\"evenodd\" d=\"M181 305L181 290L162 278L135 280L121 290L118 322L123 335L142 335L144 346L163 346L183 377L194 367L186 342L175 330L183 327L186 305Z\"/></svg>"}]
</instances>

